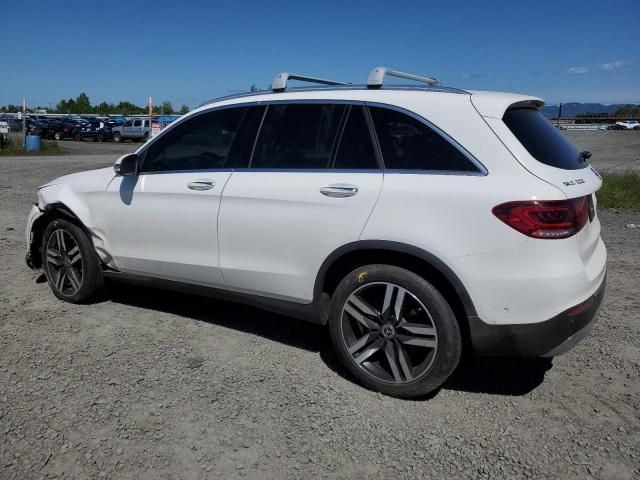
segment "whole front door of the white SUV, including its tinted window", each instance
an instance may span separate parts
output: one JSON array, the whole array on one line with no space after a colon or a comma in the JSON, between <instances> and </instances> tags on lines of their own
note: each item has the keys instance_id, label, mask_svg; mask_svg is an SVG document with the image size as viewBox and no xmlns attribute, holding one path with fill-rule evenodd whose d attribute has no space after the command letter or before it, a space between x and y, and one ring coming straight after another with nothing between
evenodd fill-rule
<instances>
[{"instance_id":1,"label":"whole front door of the white SUV, including its tinted window","mask_svg":"<svg viewBox=\"0 0 640 480\"><path fill-rule=\"evenodd\" d=\"M213 109L169 127L141 153L141 174L108 187L107 231L120 269L221 286L218 253L225 167L245 107Z\"/></svg>"}]
</instances>

